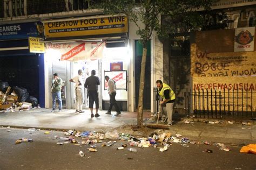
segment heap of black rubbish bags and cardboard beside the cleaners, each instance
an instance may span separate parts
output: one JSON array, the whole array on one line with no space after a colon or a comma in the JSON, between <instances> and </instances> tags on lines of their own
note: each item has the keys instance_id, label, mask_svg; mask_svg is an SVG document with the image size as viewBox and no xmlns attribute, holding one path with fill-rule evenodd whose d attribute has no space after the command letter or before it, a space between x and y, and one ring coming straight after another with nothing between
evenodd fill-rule
<instances>
[{"instance_id":1,"label":"heap of black rubbish bags and cardboard beside the cleaners","mask_svg":"<svg viewBox=\"0 0 256 170\"><path fill-rule=\"evenodd\" d=\"M15 112L37 107L36 97L29 96L28 90L22 87L10 87L8 82L0 82L0 110Z\"/></svg>"}]
</instances>

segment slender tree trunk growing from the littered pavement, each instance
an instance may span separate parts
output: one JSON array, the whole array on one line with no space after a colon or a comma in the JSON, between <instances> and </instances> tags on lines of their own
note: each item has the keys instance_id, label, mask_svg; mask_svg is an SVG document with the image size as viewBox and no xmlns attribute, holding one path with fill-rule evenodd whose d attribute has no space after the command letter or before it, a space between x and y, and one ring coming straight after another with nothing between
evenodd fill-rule
<instances>
[{"instance_id":1,"label":"slender tree trunk growing from the littered pavement","mask_svg":"<svg viewBox=\"0 0 256 170\"><path fill-rule=\"evenodd\" d=\"M139 80L139 103L138 103L138 126L141 128L143 126L143 92L145 84L145 67L146 67L146 56L147 48L143 47L142 53L142 68L140 70L140 80Z\"/></svg>"}]
</instances>

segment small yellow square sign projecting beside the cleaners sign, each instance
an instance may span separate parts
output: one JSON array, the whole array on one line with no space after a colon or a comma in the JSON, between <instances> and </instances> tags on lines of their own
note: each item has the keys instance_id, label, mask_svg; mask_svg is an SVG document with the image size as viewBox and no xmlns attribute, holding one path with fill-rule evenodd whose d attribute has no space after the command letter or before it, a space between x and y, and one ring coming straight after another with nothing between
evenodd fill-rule
<instances>
[{"instance_id":1,"label":"small yellow square sign projecting beside the cleaners sign","mask_svg":"<svg viewBox=\"0 0 256 170\"><path fill-rule=\"evenodd\" d=\"M44 42L40 42L40 38L29 37L29 52L30 53L44 53Z\"/></svg>"}]
</instances>

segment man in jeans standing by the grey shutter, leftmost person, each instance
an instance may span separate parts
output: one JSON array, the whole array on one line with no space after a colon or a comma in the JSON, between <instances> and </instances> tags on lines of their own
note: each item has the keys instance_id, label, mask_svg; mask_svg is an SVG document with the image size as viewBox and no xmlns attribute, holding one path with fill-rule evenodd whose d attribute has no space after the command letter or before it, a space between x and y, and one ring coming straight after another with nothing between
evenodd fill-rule
<instances>
[{"instance_id":1,"label":"man in jeans standing by the grey shutter, leftmost person","mask_svg":"<svg viewBox=\"0 0 256 170\"><path fill-rule=\"evenodd\" d=\"M62 79L57 73L53 74L53 80L51 84L51 95L52 95L52 112L55 111L56 97L59 103L59 111L62 111L62 97L60 90L62 89Z\"/></svg>"}]
</instances>

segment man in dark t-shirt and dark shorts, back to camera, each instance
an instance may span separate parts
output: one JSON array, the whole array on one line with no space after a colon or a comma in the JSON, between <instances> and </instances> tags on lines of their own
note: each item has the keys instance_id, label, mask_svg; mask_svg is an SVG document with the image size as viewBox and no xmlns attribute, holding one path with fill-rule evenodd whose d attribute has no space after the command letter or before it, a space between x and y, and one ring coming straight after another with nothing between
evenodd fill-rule
<instances>
[{"instance_id":1,"label":"man in dark t-shirt and dark shorts, back to camera","mask_svg":"<svg viewBox=\"0 0 256 170\"><path fill-rule=\"evenodd\" d=\"M84 83L84 87L88 90L89 96L89 108L91 110L91 118L99 117L98 110L99 110L99 96L98 96L98 86L99 86L99 77L95 76L96 71L92 70L91 76L89 76ZM95 102L96 105L96 114L93 115L93 104Z\"/></svg>"}]
</instances>

